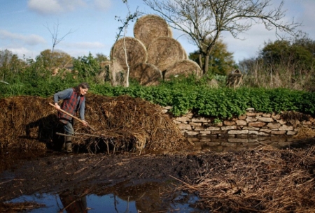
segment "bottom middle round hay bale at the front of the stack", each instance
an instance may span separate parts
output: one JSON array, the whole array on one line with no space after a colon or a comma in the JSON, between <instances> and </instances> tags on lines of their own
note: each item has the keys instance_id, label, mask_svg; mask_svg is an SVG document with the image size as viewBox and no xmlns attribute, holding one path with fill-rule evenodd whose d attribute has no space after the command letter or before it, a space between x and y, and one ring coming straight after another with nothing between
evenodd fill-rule
<instances>
[{"instance_id":1,"label":"bottom middle round hay bale at the front of the stack","mask_svg":"<svg viewBox=\"0 0 315 213\"><path fill-rule=\"evenodd\" d=\"M130 68L130 78L144 86L159 85L162 72L153 64L139 63Z\"/></svg>"}]
</instances>

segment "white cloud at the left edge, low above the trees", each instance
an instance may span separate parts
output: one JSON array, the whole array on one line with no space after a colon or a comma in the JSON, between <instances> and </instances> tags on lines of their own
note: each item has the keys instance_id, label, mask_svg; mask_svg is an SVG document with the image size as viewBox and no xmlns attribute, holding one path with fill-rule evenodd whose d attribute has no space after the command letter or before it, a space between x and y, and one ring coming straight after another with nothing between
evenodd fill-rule
<instances>
[{"instance_id":1,"label":"white cloud at the left edge, low above the trees","mask_svg":"<svg viewBox=\"0 0 315 213\"><path fill-rule=\"evenodd\" d=\"M41 43L46 43L45 39L41 36L37 36L34 34L31 34L29 36L23 36L21 34L13 34L6 30L0 30L0 38L1 40L11 40L15 42L22 42L26 45L38 45Z\"/></svg>"}]
</instances>

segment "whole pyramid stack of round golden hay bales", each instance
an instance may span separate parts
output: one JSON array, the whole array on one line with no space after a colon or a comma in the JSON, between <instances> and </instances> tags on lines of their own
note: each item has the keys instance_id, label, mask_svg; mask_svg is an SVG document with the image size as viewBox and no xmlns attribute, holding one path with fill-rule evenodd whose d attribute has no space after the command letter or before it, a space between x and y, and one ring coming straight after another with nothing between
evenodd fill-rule
<instances>
[{"instance_id":1,"label":"whole pyramid stack of round golden hay bales","mask_svg":"<svg viewBox=\"0 0 315 213\"><path fill-rule=\"evenodd\" d=\"M113 85L130 69L130 78L140 85L158 85L172 76L201 74L200 66L188 59L172 29L158 15L144 15L134 24L134 38L120 38L111 48ZM127 59L126 59L127 58Z\"/></svg>"}]
</instances>

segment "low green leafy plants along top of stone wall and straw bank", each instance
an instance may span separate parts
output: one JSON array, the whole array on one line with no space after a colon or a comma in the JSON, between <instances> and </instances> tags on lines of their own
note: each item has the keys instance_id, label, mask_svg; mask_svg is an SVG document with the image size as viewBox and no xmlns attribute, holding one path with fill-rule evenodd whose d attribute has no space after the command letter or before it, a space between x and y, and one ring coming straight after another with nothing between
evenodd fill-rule
<instances>
[{"instance_id":1,"label":"low green leafy plants along top of stone wall and straw bank","mask_svg":"<svg viewBox=\"0 0 315 213\"><path fill-rule=\"evenodd\" d=\"M73 79L71 76L50 78L50 80L41 75L31 78L34 80L22 82L20 79L9 85L0 83L1 98L22 95L51 97L55 92L76 86L83 81L83 79ZM315 114L314 93L307 91L247 87L214 89L193 77L162 82L155 87L143 87L136 83L132 83L130 87L112 87L108 82L97 84L92 80L89 83L92 94L143 98L158 105L172 106L171 112L175 116L193 110L203 117L225 119L244 115L247 108L255 108L258 112L279 113L294 110L309 115Z\"/></svg>"}]
</instances>

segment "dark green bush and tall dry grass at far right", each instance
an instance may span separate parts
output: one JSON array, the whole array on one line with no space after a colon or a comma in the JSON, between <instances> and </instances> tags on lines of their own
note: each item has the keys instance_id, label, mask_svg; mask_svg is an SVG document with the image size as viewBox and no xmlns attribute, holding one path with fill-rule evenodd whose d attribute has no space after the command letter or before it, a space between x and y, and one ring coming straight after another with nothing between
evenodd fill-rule
<instances>
[{"instance_id":1,"label":"dark green bush and tall dry grass at far right","mask_svg":"<svg viewBox=\"0 0 315 213\"><path fill-rule=\"evenodd\" d=\"M301 35L269 41L256 59L240 61L239 67L247 74L247 82L258 87L313 90L315 41Z\"/></svg>"}]
</instances>

